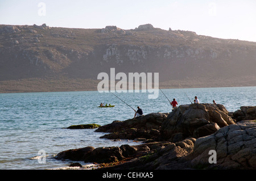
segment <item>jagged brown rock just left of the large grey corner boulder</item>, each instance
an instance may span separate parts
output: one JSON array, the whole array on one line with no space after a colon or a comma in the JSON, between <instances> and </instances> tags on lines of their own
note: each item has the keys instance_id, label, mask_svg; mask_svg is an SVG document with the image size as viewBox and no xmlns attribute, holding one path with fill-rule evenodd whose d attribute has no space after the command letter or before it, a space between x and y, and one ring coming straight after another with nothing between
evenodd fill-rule
<instances>
[{"instance_id":1,"label":"jagged brown rock just left of the large grey corner boulder","mask_svg":"<svg viewBox=\"0 0 256 181\"><path fill-rule=\"evenodd\" d=\"M136 155L128 162L102 169L139 169L139 170L170 170L191 169L189 154L192 153L195 138L187 138L177 143L152 142L150 149L143 155ZM156 146L157 145L157 146ZM155 149L154 149L155 148Z\"/></svg>"}]
</instances>

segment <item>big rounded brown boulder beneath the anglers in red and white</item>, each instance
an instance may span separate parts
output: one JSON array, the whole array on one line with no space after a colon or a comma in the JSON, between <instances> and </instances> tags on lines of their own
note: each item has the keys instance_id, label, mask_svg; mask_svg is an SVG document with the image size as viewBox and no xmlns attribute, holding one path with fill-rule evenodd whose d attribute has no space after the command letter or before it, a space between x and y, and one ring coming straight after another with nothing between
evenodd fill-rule
<instances>
[{"instance_id":1,"label":"big rounded brown boulder beneath the anglers in red and white","mask_svg":"<svg viewBox=\"0 0 256 181\"><path fill-rule=\"evenodd\" d=\"M160 129L161 138L171 142L187 137L199 138L234 124L221 104L181 105L168 115Z\"/></svg>"}]
</instances>

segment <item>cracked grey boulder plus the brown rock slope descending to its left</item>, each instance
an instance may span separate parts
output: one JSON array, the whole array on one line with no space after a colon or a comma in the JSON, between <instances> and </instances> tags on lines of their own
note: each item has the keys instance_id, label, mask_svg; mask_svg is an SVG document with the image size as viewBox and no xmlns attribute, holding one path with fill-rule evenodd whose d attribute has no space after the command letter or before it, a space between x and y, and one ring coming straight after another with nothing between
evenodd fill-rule
<instances>
[{"instance_id":1,"label":"cracked grey boulder plus the brown rock slope descending to its left","mask_svg":"<svg viewBox=\"0 0 256 181\"><path fill-rule=\"evenodd\" d=\"M210 150L217 153L209 163ZM104 169L256 169L256 121L241 121L209 136L187 138Z\"/></svg>"}]
</instances>

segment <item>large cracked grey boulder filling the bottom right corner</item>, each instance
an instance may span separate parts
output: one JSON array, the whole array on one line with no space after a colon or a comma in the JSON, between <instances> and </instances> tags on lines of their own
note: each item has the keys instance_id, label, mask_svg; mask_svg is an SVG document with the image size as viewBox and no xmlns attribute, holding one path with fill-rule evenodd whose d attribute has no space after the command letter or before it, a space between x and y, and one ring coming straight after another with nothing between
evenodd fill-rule
<instances>
[{"instance_id":1,"label":"large cracked grey boulder filling the bottom right corner","mask_svg":"<svg viewBox=\"0 0 256 181\"><path fill-rule=\"evenodd\" d=\"M216 163L209 163L209 151ZM191 167L204 169L256 169L256 121L240 121L195 142Z\"/></svg>"}]
</instances>

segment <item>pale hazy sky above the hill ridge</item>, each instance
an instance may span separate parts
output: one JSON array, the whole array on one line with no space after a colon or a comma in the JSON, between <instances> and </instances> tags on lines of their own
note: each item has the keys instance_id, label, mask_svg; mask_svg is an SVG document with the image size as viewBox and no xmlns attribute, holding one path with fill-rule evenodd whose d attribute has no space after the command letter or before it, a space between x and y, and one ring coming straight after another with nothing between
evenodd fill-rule
<instances>
[{"instance_id":1,"label":"pale hazy sky above the hill ridge","mask_svg":"<svg viewBox=\"0 0 256 181\"><path fill-rule=\"evenodd\" d=\"M0 24L129 30L150 23L256 42L255 0L0 0Z\"/></svg>"}]
</instances>

